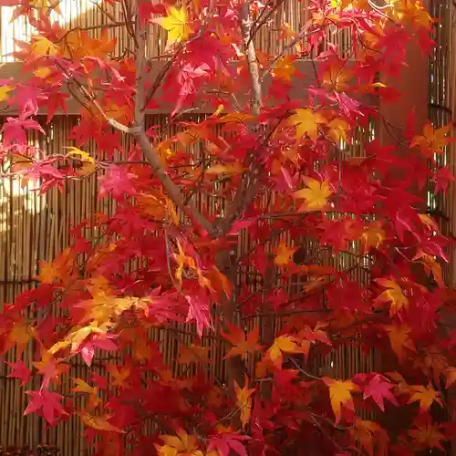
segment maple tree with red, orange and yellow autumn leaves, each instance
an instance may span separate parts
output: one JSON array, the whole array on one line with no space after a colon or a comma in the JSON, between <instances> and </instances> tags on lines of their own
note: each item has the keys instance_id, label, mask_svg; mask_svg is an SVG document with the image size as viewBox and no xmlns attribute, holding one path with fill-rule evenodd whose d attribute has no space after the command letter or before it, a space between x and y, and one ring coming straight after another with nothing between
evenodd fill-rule
<instances>
[{"instance_id":1,"label":"maple tree with red, orange and yellow autumn leaves","mask_svg":"<svg viewBox=\"0 0 456 456\"><path fill-rule=\"evenodd\" d=\"M54 20L58 2L0 2L34 27L13 53L25 80L0 81L16 112L2 127L2 177L46 193L97 173L98 198L117 202L75 226L67 249L40 265L39 286L5 304L1 349L16 350L8 377L28 396L24 413L50 426L77 417L99 455L403 455L451 439L442 411L452 410L456 333L441 325L454 303L441 267L450 240L423 197L427 181L445 192L453 180L435 160L451 125L398 128L388 143L371 128L390 127L378 102L398 94L386 81L410 40L430 51L434 21L420 0L316 0L293 2L305 24L276 30L287 3L103 0L94 35ZM129 36L120 56L110 28ZM256 45L262 29L274 55ZM158 63L150 39L160 30ZM312 62L309 87L300 61ZM81 111L66 149L28 142L70 102ZM171 136L148 120L170 104ZM209 114L185 117L202 107ZM363 153L347 154L350 144ZM368 278L357 281L357 268ZM171 363L154 328L178 342ZM223 378L211 341L224 350ZM313 368L340 347L374 350L388 366L347 378ZM90 371L107 353L123 361L72 373L71 358ZM399 409L398 429L388 417ZM161 432L146 432L149 421Z\"/></svg>"}]
</instances>

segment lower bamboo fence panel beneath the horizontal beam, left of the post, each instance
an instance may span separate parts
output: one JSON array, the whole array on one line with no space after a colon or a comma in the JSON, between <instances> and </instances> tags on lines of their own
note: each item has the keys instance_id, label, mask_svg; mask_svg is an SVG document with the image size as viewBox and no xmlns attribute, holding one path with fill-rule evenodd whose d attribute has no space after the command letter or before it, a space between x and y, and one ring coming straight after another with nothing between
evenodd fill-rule
<instances>
[{"instance_id":1,"label":"lower bamboo fence panel beneath the horizontal beam, left of the post","mask_svg":"<svg viewBox=\"0 0 456 456\"><path fill-rule=\"evenodd\" d=\"M189 118L190 119L190 118ZM195 120L195 119L193 119ZM163 116L155 116L149 119L151 124L161 124L164 131L173 134L175 126L167 122ZM47 127L49 140L42 141L40 147L48 154L61 153L62 148L67 144L67 132L76 125L77 117L57 117L55 121ZM31 138L31 140L37 140ZM362 138L360 138L362 140ZM356 144L356 141L355 141ZM129 144L123 144L128 148ZM362 150L362 147L358 149ZM85 150L90 155L97 157L98 152L94 144L89 144ZM115 157L116 159L116 157ZM39 272L38 261L51 261L53 257L67 246L69 243L68 233L70 229L84 219L93 217L96 211L103 210L109 215L115 213L115 202L111 198L101 201L96 199L97 176L90 176L81 181L69 182L64 192L52 189L46 195L37 196L33 189L21 191L16 181L4 181L0 187L0 195L4 195L1 205L3 231L0 233L0 248L5 252L5 261L2 264L2 283L0 290L3 293L3 302L13 302L17 295L27 286L34 285L34 276ZM9 190L6 188L9 187ZM210 206L213 207L213 204ZM277 240L269 246L269 250L275 248ZM254 248L248 237L243 238L239 245L239 253L244 254ZM318 252L315 242L311 245L311 252ZM338 270L349 269L352 267L353 278L365 281L368 272L362 267L357 266L358 251L357 246L353 246L353 251L342 254L339 258L328 256L322 252L320 254L323 264L333 264ZM353 267L355 266L355 267ZM250 271L254 273L254 271ZM240 283L244 283L247 272L239 275ZM294 284L303 285L302 281L296 279ZM251 281L251 291L254 292L258 285L255 280ZM55 316L58 316L55 313ZM254 325L263 325L261 317L254 316L246 322L248 329ZM282 326L281 321L275 321L275 331ZM185 368L176 363L179 342L185 344L194 343L196 330L190 325L177 325L176 329L186 332L178 338L172 331L154 330L150 335L151 340L160 341L164 347L164 358L171 366L175 374L190 375L193 368ZM225 345L218 339L207 335L202 338L202 346L210 347L212 363L209 375L216 378L225 378L223 356ZM26 361L33 357L33 347L29 347L26 354ZM14 352L6 355L6 360L14 360ZM106 359L106 358L105 358ZM120 361L122 358L113 356L111 360ZM249 359L249 368L253 373L254 359ZM71 373L73 377L85 378L88 368L80 359L73 361L75 371ZM316 357L311 361L312 369L320 375L331 375L334 377L346 378L352 373L369 371L374 369L374 357L361 355L356 347L340 347L329 357ZM25 398L21 389L17 387L16 381L6 378L8 369L5 364L0 365L0 401L5 405L0 410L0 420L5 424L0 427L0 441L5 444L16 444L18 440L24 439L27 443L35 445L38 442L50 442L57 444L63 454L82 454L84 451L83 440L78 439L82 432L82 426L78 419L71 418L67 422L61 423L57 429L45 430L42 420L35 416L22 417L22 412L26 406ZM103 366L95 363L93 366L98 373L103 372ZM40 378L33 379L34 387L38 387ZM68 376L62 378L65 387L71 386L71 379ZM76 399L76 403L81 399ZM68 439L74 436L74 440ZM19 439L20 437L20 439Z\"/></svg>"}]
</instances>

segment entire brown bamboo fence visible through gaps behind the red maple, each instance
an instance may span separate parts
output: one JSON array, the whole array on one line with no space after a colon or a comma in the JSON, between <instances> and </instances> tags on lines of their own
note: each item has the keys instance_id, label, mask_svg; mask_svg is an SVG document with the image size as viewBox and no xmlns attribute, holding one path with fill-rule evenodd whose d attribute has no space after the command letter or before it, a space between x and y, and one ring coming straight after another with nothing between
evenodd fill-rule
<instances>
[{"instance_id":1,"label":"entire brown bamboo fence visible through gaps behind the red maple","mask_svg":"<svg viewBox=\"0 0 456 456\"><path fill-rule=\"evenodd\" d=\"M104 2L104 5L108 5ZM105 24L106 18L100 15L97 2L89 0L64 0L61 3L62 11L68 27L82 26L91 27L94 25ZM454 34L451 23L451 2L445 1L432 5L433 15L442 19L441 26L438 27L436 39L438 49L430 58L430 116L439 125L451 119L451 109L453 109L456 98L452 88L456 87L456 71L454 59L450 53L450 36ZM113 9L112 16L119 19L119 11ZM278 29L282 24L287 23L292 28L297 29L304 25L307 20L306 4L298 0L285 1L276 15L275 23L271 29ZM4 62L12 61L11 57L5 57L14 49L12 38L26 39L33 33L33 30L24 21L17 20L13 25L8 25L11 17L11 8L2 7L0 10L1 25L1 54ZM91 30L94 36L100 36L101 31ZM109 28L109 37L117 37L117 52L121 54L124 47L128 46L128 36L121 28ZM264 30L257 36L256 47L262 51L274 54L277 47L277 39L274 31ZM349 36L345 34L335 34L331 36L331 42L337 44L342 49L349 47ZM166 44L166 34L160 27L154 27L148 51L150 55L160 59ZM326 43L323 48L326 47ZM449 84L449 75L452 84ZM451 86L451 87L449 87ZM452 97L452 98L451 98ZM435 105L435 106L434 106ZM440 109L441 107L448 107ZM187 119L197 120L195 116ZM150 116L150 124L160 125L161 132L165 136L171 136L176 130L175 125L168 122L166 115ZM30 140L47 154L62 153L63 147L70 144L67 137L69 130L78 122L77 116L56 117L53 122L46 127L46 137L31 136ZM44 123L44 122L43 122ZM373 129L360 132L358 141L354 141L352 146L347 146L350 154L361 155L363 153L363 142L368 136L373 134ZM129 143L122 146L128 150ZM99 157L94 144L89 144L85 150L91 156ZM452 166L454 161L454 150L444 159ZM0 182L0 305L12 303L15 296L22 291L35 287L35 277L39 273L39 262L51 261L58 252L62 251L69 244L69 232L71 227L77 225L84 219L90 219L98 211L112 215L116 211L116 202L111 198L97 199L98 175L90 176L82 181L71 181L65 186L63 192L52 189L45 195L34 192L33 186L29 184L25 189L21 188L17 181ZM451 187L451 194L446 199L438 199L431 196L430 206L439 209L447 214L447 218L453 215L454 221L444 225L447 233L453 233L453 223L456 223L456 214L451 210L453 199L456 198L456 189ZM206 202L209 207L215 207L217 201ZM280 239L277 240L277 244ZM270 245L269 248L274 248ZM253 247L248 236L244 235L240 239L239 254L249 252ZM307 254L315 256L321 264L332 264L339 270L350 270L350 275L355 280L364 282L368 280L368 259L360 258L358 247L353 246L350 252L335 258L324 250L319 250L316 243L307 242ZM454 264L456 258L451 256ZM448 268L447 276L451 284L456 283L456 273L452 264ZM259 285L254 277L253 268L240 269L239 283L245 283L249 277L249 287L252 291ZM295 285L299 285L299 278L296 278ZM247 319L247 326L264 326L264 318L252 316ZM280 328L282 322L275 320L275 331ZM150 337L154 341L160 341L163 349L164 358L169 363L175 373L182 374L184 369L176 363L179 343L191 344L194 341L194 329L191 326L179 326L183 332L179 333L179 338L173 331L163 331L154 329ZM186 332L185 332L186 331ZM223 356L225 345L217 338L207 335L202 339L202 346L211 349L211 372L210 375L217 378L224 378ZM34 347L30 346L25 352L24 360L30 363L34 357ZM6 361L13 361L14 352L8 352L5 356ZM112 361L117 358L113 357ZM104 358L106 360L106 358ZM253 360L251 360L251 367ZM337 378L347 378L355 372L368 372L375 369L378 360L375 354L363 354L357 347L340 347L328 357L314 357L312 366L314 371L320 375L329 375ZM72 377L85 378L88 369L77 358L73 361ZM103 372L101 363L94 363L92 370L98 373ZM187 372L192 373L191 369ZM26 408L26 395L23 389L19 388L14 378L7 378L9 368L5 363L0 363L0 445L29 445L35 447L38 443L50 443L56 445L63 456L77 456L88 454L85 442L80 438L83 427L78 419L70 419L61 423L56 429L47 429L43 420L35 415L24 417L23 411ZM41 378L32 378L29 389L39 387ZM70 388L72 380L69 377L63 378L64 387ZM76 405L80 405L76 399ZM150 429L151 430L151 429Z\"/></svg>"}]
</instances>

